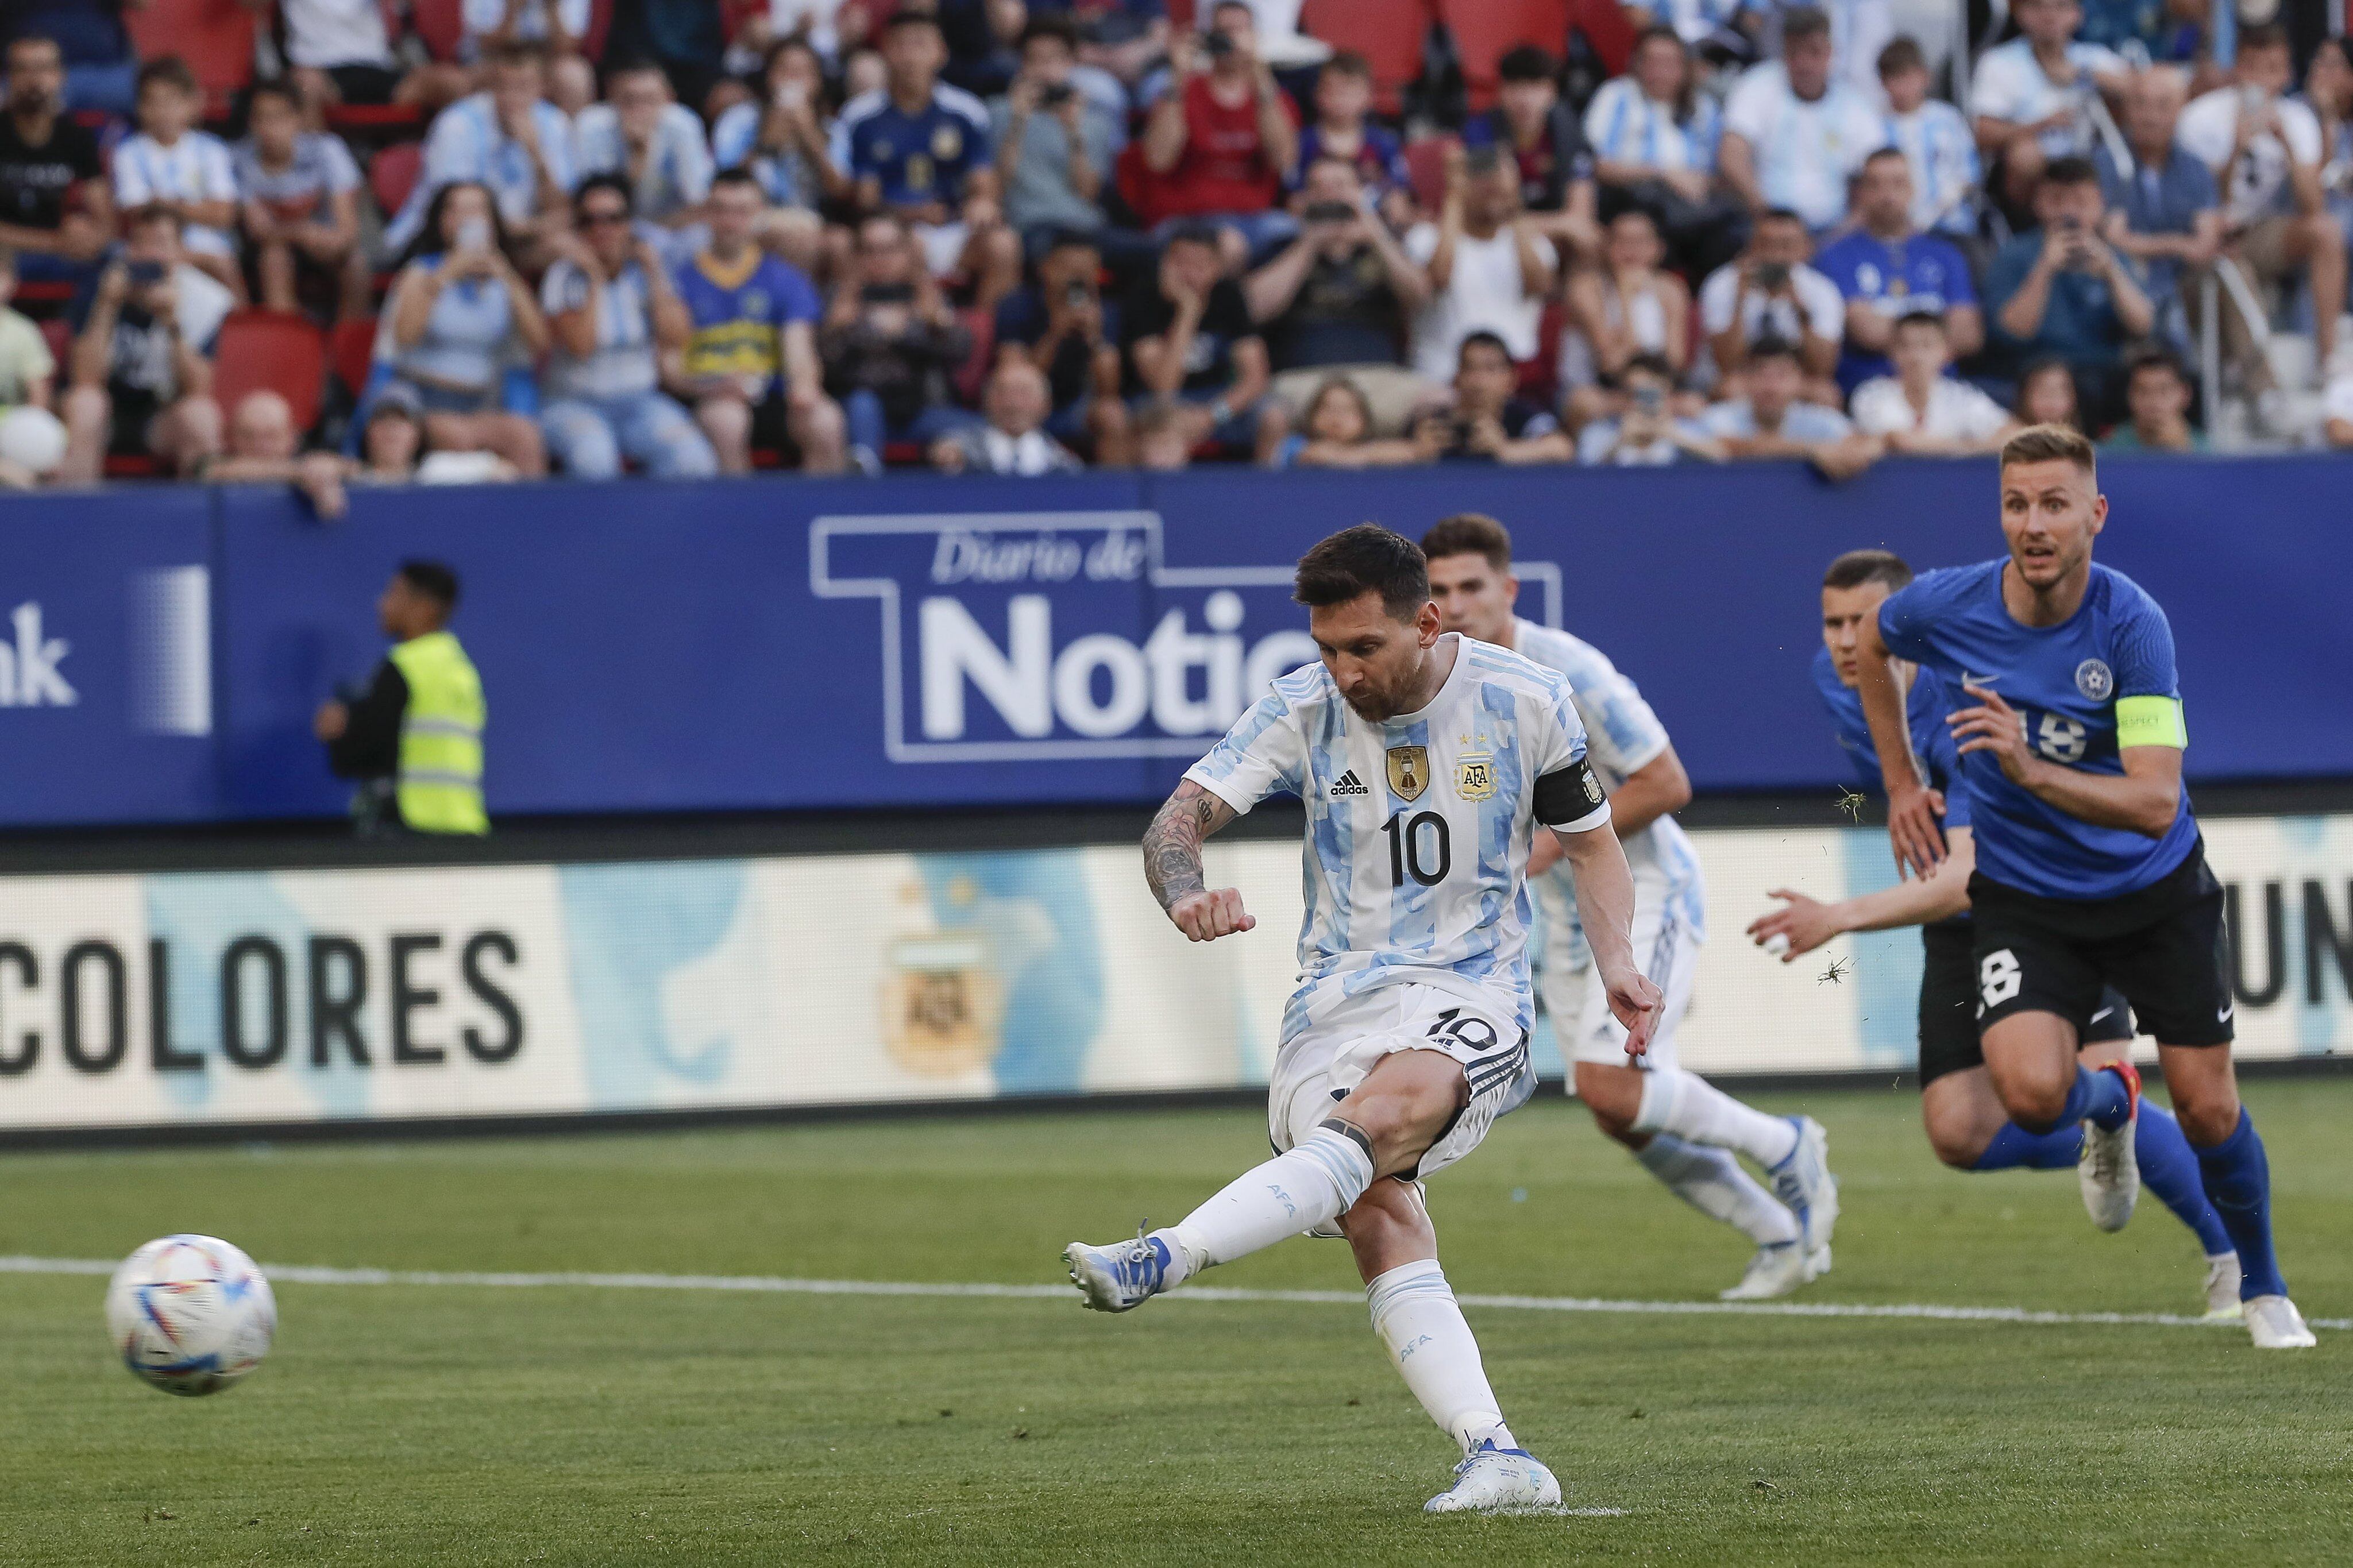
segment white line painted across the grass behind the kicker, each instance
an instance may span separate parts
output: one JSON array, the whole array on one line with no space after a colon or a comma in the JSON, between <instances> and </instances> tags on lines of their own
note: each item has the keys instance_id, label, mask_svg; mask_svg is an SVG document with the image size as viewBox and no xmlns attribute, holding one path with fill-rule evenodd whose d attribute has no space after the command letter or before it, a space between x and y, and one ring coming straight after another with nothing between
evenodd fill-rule
<instances>
[{"instance_id":1,"label":"white line painted across the grass behind the kicker","mask_svg":"<svg viewBox=\"0 0 2353 1568\"><path fill-rule=\"evenodd\" d=\"M104 1258L24 1258L0 1255L0 1274L113 1274ZM1000 1286L1000 1284L922 1284L896 1279L779 1279L772 1274L482 1274L449 1269L327 1269L299 1262L264 1267L278 1284L296 1286L478 1286L478 1288L576 1288L576 1291L748 1291L753 1295L981 1295L1016 1300L1071 1300L1071 1286ZM1195 1302L1285 1302L1313 1307L1362 1307L1362 1291L1231 1291L1198 1286L1167 1300ZM2028 1307L1944 1307L1934 1302L1621 1302L1591 1295L1461 1295L1464 1307L1506 1312L1633 1312L1633 1314L1704 1314L1704 1316L1878 1316L1932 1319L1944 1324L2028 1324L2028 1326L2146 1326L2212 1328L2195 1316L2172 1312L2033 1312ZM2313 1328L2353 1328L2353 1319L2311 1319Z\"/></svg>"}]
</instances>

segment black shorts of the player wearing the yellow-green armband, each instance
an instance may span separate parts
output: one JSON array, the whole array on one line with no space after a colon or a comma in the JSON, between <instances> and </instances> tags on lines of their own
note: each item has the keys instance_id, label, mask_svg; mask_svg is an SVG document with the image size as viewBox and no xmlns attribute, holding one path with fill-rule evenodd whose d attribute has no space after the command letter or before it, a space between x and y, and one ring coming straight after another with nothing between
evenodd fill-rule
<instances>
[{"instance_id":1,"label":"black shorts of the player wearing the yellow-green armband","mask_svg":"<svg viewBox=\"0 0 2353 1568\"><path fill-rule=\"evenodd\" d=\"M1969 877L1977 1027L2059 1013L2089 1032L2106 987L2167 1046L2231 1044L2231 954L2205 839L2160 882L2118 898L2038 898Z\"/></svg>"}]
</instances>

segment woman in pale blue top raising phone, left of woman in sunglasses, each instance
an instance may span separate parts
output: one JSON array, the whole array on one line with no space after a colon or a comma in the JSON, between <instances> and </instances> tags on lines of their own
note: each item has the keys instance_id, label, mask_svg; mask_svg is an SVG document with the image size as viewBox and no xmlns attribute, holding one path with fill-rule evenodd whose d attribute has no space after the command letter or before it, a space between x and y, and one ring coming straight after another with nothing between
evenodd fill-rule
<instances>
[{"instance_id":1,"label":"woman in pale blue top raising phone, left of woman in sunglasses","mask_svg":"<svg viewBox=\"0 0 2353 1568\"><path fill-rule=\"evenodd\" d=\"M376 371L424 411L440 451L492 451L525 477L548 470L539 421L511 407L518 374L548 350L539 299L506 254L485 186L442 186L376 324Z\"/></svg>"}]
</instances>

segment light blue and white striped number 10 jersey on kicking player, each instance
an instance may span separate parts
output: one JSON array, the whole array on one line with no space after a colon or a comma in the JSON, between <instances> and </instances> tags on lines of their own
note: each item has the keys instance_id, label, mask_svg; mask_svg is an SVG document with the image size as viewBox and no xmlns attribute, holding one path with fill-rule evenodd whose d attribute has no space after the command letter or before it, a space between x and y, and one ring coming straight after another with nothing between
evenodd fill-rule
<instances>
[{"instance_id":1,"label":"light blue and white striped number 10 jersey on kicking player","mask_svg":"<svg viewBox=\"0 0 2353 1568\"><path fill-rule=\"evenodd\" d=\"M1419 712L1374 724L1313 663L1186 771L1235 811L1280 792L1308 809L1301 973L1282 1039L1346 997L1402 983L1511 1006L1534 1027L1534 788L1586 755L1586 726L1558 672L1459 632L1447 644L1454 670ZM1567 827L1607 820L1602 799Z\"/></svg>"}]
</instances>

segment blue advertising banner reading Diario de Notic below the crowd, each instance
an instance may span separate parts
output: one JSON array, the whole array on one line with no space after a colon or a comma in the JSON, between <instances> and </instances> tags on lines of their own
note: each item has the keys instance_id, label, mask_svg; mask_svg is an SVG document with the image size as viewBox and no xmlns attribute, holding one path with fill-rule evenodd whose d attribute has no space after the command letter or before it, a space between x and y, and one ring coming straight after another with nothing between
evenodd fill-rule
<instances>
[{"instance_id":1,"label":"blue advertising banner reading Diario de Notic below the crowd","mask_svg":"<svg viewBox=\"0 0 2353 1568\"><path fill-rule=\"evenodd\" d=\"M2353 776L2322 722L2353 675L2346 473L2101 470L2099 557L2172 616L2193 780ZM332 527L278 487L42 498L0 515L0 726L42 759L0 820L339 813L311 715L367 679L412 555L466 583L494 813L1151 802L1313 658L1306 545L1459 510L1511 524L1522 614L1633 675L1701 790L1842 783L1805 672L1833 555L2000 550L1984 461L405 489Z\"/></svg>"}]
</instances>

